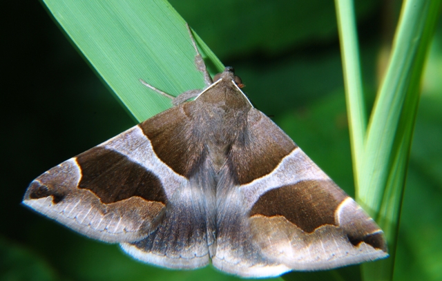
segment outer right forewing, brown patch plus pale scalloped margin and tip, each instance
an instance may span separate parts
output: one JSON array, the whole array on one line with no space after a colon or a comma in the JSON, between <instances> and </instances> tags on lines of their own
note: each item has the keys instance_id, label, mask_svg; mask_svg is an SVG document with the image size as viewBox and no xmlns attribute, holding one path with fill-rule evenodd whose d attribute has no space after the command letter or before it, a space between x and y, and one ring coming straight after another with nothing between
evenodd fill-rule
<instances>
[{"instance_id":1,"label":"outer right forewing, brown patch plus pale scalloped margin and tip","mask_svg":"<svg viewBox=\"0 0 442 281\"><path fill-rule=\"evenodd\" d=\"M331 180L273 188L253 204L249 216L262 255L293 270L387 257L383 231Z\"/></svg>"}]
</instances>

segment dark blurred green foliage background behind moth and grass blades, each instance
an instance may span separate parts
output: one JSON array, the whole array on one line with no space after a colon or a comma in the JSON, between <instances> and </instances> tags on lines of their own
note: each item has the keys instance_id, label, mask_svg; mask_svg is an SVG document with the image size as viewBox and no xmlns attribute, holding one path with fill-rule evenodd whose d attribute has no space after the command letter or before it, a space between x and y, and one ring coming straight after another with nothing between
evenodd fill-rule
<instances>
[{"instance_id":1,"label":"dark blurred green foliage background behind moth and grass blades","mask_svg":"<svg viewBox=\"0 0 442 281\"><path fill-rule=\"evenodd\" d=\"M390 1L356 2L370 104L384 36L391 36L391 27L385 24L396 21L397 10ZM254 104L273 115L353 195L333 2L174 0L171 4L224 65L236 68ZM3 5L9 24L3 44L7 73L1 77L6 87L1 111L0 280L238 279L213 267L169 271L135 262L118 246L88 240L19 204L39 174L134 123L43 6L36 1ZM441 66L439 21L416 120L394 280L442 280ZM286 278L320 280L321 274L288 273ZM357 279L358 267L332 274L335 280Z\"/></svg>"}]
</instances>

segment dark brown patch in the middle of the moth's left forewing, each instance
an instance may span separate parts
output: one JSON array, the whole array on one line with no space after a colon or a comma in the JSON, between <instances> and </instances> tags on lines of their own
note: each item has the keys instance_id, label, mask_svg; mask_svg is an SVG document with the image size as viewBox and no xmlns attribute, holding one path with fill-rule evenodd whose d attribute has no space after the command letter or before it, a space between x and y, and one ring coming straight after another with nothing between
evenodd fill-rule
<instances>
[{"instance_id":1,"label":"dark brown patch in the middle of the moth's left forewing","mask_svg":"<svg viewBox=\"0 0 442 281\"><path fill-rule=\"evenodd\" d=\"M78 155L77 163L82 175L78 187L89 189L104 204L133 196L166 204L160 180L125 155L97 146Z\"/></svg>"}]
</instances>

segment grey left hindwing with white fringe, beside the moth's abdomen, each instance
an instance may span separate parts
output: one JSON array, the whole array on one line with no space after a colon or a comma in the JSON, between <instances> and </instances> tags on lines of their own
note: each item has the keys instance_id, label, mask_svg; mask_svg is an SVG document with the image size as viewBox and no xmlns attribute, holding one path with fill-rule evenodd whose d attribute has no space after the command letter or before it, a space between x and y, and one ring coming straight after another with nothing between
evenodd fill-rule
<instances>
[{"instance_id":1,"label":"grey left hindwing with white fringe, beside the moth's abdomen","mask_svg":"<svg viewBox=\"0 0 442 281\"><path fill-rule=\"evenodd\" d=\"M215 195L213 189L202 188L206 180L206 175L195 175L184 182L157 229L139 242L122 244L122 249L161 267L195 269L209 264L215 247Z\"/></svg>"}]
</instances>

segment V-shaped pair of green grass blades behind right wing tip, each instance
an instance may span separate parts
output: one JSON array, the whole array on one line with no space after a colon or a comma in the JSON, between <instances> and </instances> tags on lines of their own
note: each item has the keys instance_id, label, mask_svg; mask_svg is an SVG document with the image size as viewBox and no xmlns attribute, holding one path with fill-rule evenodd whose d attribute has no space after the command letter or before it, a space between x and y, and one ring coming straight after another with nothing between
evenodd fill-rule
<instances>
[{"instance_id":1,"label":"V-shaped pair of green grass blades behind right wing tip","mask_svg":"<svg viewBox=\"0 0 442 281\"><path fill-rule=\"evenodd\" d=\"M440 1L403 3L392 57L371 115L365 144L365 112L356 29L352 21L353 4L349 0L336 0L335 3L343 50L356 199L383 228L390 245L390 259L363 265L363 280L392 280L398 218L419 104L423 61Z\"/></svg>"}]
</instances>

